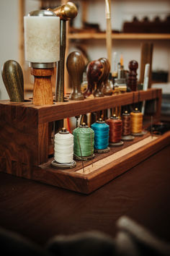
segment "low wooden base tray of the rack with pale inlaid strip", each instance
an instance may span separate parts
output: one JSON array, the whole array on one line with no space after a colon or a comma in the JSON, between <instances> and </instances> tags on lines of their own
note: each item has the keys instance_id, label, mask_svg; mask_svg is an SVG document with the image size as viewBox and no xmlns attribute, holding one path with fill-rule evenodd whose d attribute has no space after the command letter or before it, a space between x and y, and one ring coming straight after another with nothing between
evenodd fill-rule
<instances>
[{"instance_id":1,"label":"low wooden base tray of the rack with pale inlaid strip","mask_svg":"<svg viewBox=\"0 0 170 256\"><path fill-rule=\"evenodd\" d=\"M153 155L170 143L170 131L164 135L151 136L150 133L143 137L135 137L133 141L125 141L122 147L112 147L108 153L95 153L94 159L76 162L75 168L53 168L49 158L47 163L32 166L30 172L22 171L13 175L32 179L37 182L51 184L56 187L70 189L83 194L89 194L107 182L115 179L125 171ZM6 172L4 162L0 162L0 170ZM4 167L3 167L4 166Z\"/></svg>"}]
</instances>

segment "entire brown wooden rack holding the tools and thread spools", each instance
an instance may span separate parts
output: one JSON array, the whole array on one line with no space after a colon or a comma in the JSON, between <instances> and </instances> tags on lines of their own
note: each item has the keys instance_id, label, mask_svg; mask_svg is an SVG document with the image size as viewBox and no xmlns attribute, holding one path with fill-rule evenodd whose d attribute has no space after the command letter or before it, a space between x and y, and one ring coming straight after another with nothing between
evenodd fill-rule
<instances>
[{"instance_id":1,"label":"entire brown wooden rack holding the tools and thread spools","mask_svg":"<svg viewBox=\"0 0 170 256\"><path fill-rule=\"evenodd\" d=\"M35 106L32 101L0 101L0 171L89 194L168 145L170 132L157 137L146 133L125 142L122 147L110 148L109 153L95 153L93 163L84 161L84 169L81 161L76 161L75 168L61 170L50 166L53 161L50 138L53 121L153 99L156 99L153 121L157 122L161 111L161 89L49 106ZM151 116L148 118L150 120Z\"/></svg>"}]
</instances>

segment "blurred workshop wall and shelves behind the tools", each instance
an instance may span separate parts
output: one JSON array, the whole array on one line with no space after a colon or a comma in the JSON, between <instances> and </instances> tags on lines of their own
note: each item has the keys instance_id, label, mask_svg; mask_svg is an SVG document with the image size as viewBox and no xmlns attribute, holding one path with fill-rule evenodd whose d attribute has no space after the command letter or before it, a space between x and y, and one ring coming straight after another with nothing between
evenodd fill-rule
<instances>
[{"instance_id":1,"label":"blurred workshop wall and shelves behind the tools","mask_svg":"<svg viewBox=\"0 0 170 256\"><path fill-rule=\"evenodd\" d=\"M0 65L9 59L18 61L24 73L24 96L32 96L33 77L24 61L23 17L35 9L57 7L67 1L56 0L1 0L0 1ZM107 57L106 18L104 0L75 0L77 17L68 22L67 55L81 51L86 61ZM114 62L122 58L124 69L132 59L140 59L142 43L153 43L152 88L162 88L164 101L170 95L170 1L169 0L112 0L112 70ZM66 71L66 92L69 92ZM8 99L0 77L0 99ZM53 88L55 77L53 77ZM167 96L168 95L168 96ZM163 101L163 103L164 103ZM164 106L162 106L164 107ZM167 111L167 109L166 109ZM169 111L169 110L168 110Z\"/></svg>"}]
</instances>

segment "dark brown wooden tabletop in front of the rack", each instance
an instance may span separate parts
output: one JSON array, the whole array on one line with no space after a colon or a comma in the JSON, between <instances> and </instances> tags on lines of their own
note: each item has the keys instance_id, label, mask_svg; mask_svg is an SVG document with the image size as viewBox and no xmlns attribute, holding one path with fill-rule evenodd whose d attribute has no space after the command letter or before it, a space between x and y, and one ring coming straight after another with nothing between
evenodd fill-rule
<instances>
[{"instance_id":1,"label":"dark brown wooden tabletop in front of the rack","mask_svg":"<svg viewBox=\"0 0 170 256\"><path fill-rule=\"evenodd\" d=\"M0 173L0 226L45 244L58 234L99 230L120 216L170 241L170 145L91 195Z\"/></svg>"}]
</instances>

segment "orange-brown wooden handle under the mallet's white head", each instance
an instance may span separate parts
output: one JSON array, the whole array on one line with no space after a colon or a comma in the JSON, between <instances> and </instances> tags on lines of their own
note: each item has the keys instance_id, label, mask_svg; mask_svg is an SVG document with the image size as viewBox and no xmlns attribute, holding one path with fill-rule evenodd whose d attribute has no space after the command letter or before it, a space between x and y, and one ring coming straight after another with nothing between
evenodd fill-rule
<instances>
[{"instance_id":1,"label":"orange-brown wooden handle under the mallet's white head","mask_svg":"<svg viewBox=\"0 0 170 256\"><path fill-rule=\"evenodd\" d=\"M33 104L51 105L53 104L53 92L51 76L54 68L51 69L31 69L31 74L35 77L33 90Z\"/></svg>"}]
</instances>

